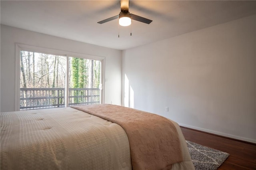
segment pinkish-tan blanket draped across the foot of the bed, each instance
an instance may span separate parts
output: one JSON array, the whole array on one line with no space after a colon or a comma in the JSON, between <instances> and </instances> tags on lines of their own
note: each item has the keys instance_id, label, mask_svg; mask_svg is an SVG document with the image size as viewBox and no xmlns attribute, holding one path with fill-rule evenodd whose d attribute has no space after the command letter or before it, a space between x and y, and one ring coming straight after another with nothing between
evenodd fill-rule
<instances>
[{"instance_id":1,"label":"pinkish-tan blanket draped across the foot of the bed","mask_svg":"<svg viewBox=\"0 0 256 170\"><path fill-rule=\"evenodd\" d=\"M168 119L117 105L79 105L72 108L117 123L128 136L133 170L168 170L182 162L178 133Z\"/></svg>"}]
</instances>

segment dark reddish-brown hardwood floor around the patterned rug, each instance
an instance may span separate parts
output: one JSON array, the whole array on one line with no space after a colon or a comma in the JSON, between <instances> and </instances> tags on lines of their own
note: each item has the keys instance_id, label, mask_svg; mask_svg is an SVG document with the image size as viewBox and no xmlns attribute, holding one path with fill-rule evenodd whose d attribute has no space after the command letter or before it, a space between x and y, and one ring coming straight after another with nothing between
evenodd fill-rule
<instances>
[{"instance_id":1,"label":"dark reddish-brown hardwood floor around the patterned rug","mask_svg":"<svg viewBox=\"0 0 256 170\"><path fill-rule=\"evenodd\" d=\"M181 127L181 130L186 140L230 154L218 170L256 170L256 144L190 128Z\"/></svg>"}]
</instances>

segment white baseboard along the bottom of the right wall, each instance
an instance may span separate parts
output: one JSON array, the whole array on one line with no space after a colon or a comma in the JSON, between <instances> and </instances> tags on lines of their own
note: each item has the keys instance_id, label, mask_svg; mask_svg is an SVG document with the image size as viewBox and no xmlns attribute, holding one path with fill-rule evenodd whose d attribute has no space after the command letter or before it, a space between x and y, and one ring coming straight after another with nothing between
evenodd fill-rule
<instances>
[{"instance_id":1,"label":"white baseboard along the bottom of the right wall","mask_svg":"<svg viewBox=\"0 0 256 170\"><path fill-rule=\"evenodd\" d=\"M227 133L223 133L223 132L218 132L218 131L214 131L214 130L209 130L209 129L205 129L205 128L200 128L200 127L194 127L194 126L190 126L190 125L184 125L182 123L178 123L180 126L182 127L187 127L187 128L192 128L195 130L200 130L203 132L208 132L208 133L212 133L212 134L217 134L219 136L223 136L223 137L228 137L228 138L232 138L232 139L237 139L237 140L242 140L245 142L250 142L250 143L254 143L256 144L256 139L251 139L251 138L244 138L242 136L236 136L236 135L232 135L232 134L227 134Z\"/></svg>"}]
</instances>

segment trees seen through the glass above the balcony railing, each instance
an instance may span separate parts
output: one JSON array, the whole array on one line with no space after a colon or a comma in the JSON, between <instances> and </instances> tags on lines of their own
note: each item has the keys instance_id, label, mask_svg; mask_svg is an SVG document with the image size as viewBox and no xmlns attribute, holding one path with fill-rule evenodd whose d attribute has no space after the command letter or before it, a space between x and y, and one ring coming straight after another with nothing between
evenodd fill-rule
<instances>
[{"instance_id":1,"label":"trees seen through the glass above the balcony railing","mask_svg":"<svg viewBox=\"0 0 256 170\"><path fill-rule=\"evenodd\" d=\"M65 67L64 56L20 51L20 87L64 87ZM89 84L93 88L99 87L100 61L93 60L92 63L90 59L70 57L69 69L70 88L89 88Z\"/></svg>"}]
</instances>

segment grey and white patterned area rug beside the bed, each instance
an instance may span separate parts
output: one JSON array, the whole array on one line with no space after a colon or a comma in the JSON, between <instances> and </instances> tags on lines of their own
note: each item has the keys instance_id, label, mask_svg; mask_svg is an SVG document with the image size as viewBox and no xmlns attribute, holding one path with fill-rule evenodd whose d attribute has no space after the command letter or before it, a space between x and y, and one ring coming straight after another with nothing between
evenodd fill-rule
<instances>
[{"instance_id":1,"label":"grey and white patterned area rug beside the bed","mask_svg":"<svg viewBox=\"0 0 256 170\"><path fill-rule=\"evenodd\" d=\"M229 154L186 140L196 170L217 170Z\"/></svg>"}]
</instances>

